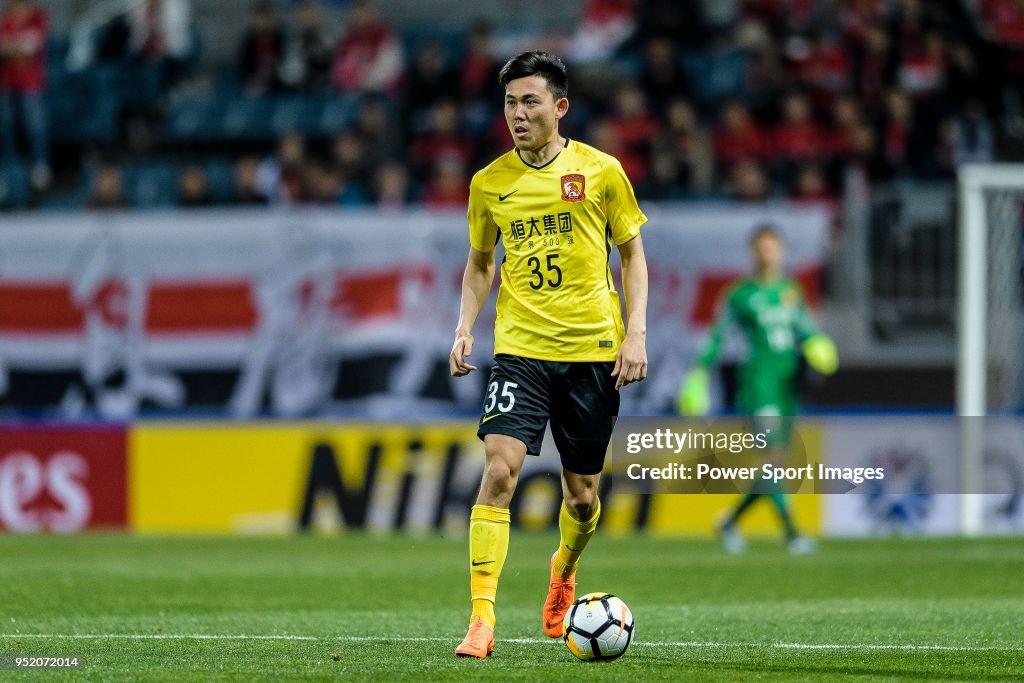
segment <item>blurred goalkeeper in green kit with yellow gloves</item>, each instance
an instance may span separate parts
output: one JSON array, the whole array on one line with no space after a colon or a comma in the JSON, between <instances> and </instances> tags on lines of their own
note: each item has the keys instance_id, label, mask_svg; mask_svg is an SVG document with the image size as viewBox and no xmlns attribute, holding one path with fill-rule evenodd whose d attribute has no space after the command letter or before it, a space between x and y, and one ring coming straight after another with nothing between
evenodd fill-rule
<instances>
[{"instance_id":1,"label":"blurred goalkeeper in green kit with yellow gloves","mask_svg":"<svg viewBox=\"0 0 1024 683\"><path fill-rule=\"evenodd\" d=\"M783 251L782 236L775 226L766 224L754 231L754 274L729 289L697 367L684 379L677 399L681 415L707 415L710 372L723 339L732 328L738 328L748 352L738 369L736 408L741 415L754 418L758 432L770 427L770 458L775 462L784 460L790 445L798 410L801 355L824 375L831 375L839 367L836 345L811 319L800 285L782 272ZM813 541L800 536L793 523L781 486L763 480L754 483L719 526L726 551L738 554L745 549L736 524L761 498L770 500L778 513L790 552L813 552Z\"/></svg>"}]
</instances>

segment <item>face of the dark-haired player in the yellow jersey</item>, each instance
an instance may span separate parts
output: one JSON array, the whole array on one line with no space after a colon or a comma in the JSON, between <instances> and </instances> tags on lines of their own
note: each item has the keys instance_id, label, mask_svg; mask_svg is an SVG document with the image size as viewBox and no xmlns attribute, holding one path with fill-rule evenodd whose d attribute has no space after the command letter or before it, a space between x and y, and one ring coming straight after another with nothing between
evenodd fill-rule
<instances>
[{"instance_id":1,"label":"face of the dark-haired player in the yellow jersey","mask_svg":"<svg viewBox=\"0 0 1024 683\"><path fill-rule=\"evenodd\" d=\"M558 121L568 111L565 97L555 99L543 76L527 76L505 86L505 123L519 150L540 150L558 134Z\"/></svg>"}]
</instances>

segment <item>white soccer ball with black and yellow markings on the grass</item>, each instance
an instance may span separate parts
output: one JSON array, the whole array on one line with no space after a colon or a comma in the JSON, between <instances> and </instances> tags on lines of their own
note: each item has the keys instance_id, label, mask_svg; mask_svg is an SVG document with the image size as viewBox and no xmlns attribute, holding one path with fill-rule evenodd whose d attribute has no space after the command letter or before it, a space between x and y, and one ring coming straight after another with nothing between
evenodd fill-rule
<instances>
[{"instance_id":1,"label":"white soccer ball with black and yellow markings on the grass","mask_svg":"<svg viewBox=\"0 0 1024 683\"><path fill-rule=\"evenodd\" d=\"M633 612L610 593L588 593L565 613L562 637L584 661L617 659L633 641Z\"/></svg>"}]
</instances>

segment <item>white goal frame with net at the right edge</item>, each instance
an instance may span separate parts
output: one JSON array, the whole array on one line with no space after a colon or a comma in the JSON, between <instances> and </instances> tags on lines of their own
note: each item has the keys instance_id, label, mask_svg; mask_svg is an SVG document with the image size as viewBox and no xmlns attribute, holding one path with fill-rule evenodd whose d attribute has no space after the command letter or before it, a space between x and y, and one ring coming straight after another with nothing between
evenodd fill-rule
<instances>
[{"instance_id":1,"label":"white goal frame with net at the right edge","mask_svg":"<svg viewBox=\"0 0 1024 683\"><path fill-rule=\"evenodd\" d=\"M984 526L982 416L1020 408L1021 220L1024 164L968 164L958 171L959 291L956 414L961 531ZM990 377L996 378L990 382ZM992 386L992 385L996 386ZM964 418L976 419L964 419Z\"/></svg>"}]
</instances>

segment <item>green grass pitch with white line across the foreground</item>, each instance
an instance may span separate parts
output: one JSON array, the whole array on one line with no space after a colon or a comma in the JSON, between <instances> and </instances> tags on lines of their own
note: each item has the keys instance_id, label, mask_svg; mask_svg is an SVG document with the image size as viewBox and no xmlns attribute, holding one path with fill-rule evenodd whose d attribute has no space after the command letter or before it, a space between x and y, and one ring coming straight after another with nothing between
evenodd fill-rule
<instances>
[{"instance_id":1,"label":"green grass pitch with white line across the foreground","mask_svg":"<svg viewBox=\"0 0 1024 683\"><path fill-rule=\"evenodd\" d=\"M0 536L0 652L84 671L10 680L1021 680L1024 540L594 539L578 591L633 609L613 663L544 639L556 537L513 531L487 660L453 654L463 539Z\"/></svg>"}]
</instances>

